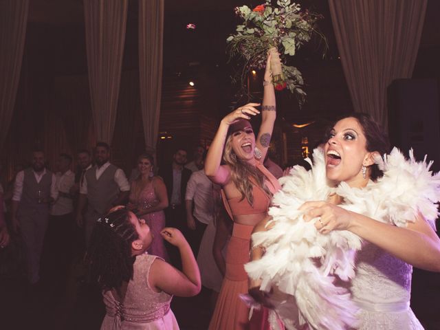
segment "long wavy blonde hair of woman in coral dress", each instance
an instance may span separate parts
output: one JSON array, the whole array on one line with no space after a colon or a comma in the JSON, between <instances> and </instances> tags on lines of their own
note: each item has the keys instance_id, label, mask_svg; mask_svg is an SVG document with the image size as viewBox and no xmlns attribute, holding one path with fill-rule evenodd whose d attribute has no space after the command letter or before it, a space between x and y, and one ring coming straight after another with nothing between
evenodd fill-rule
<instances>
[{"instance_id":1,"label":"long wavy blonde hair of woman in coral dress","mask_svg":"<svg viewBox=\"0 0 440 330\"><path fill-rule=\"evenodd\" d=\"M225 148L223 151L223 160L226 164L230 166L231 169L231 179L234 182L236 188L241 193L241 201L243 199L248 199L251 206L254 206L254 196L252 195L252 179L254 184L259 186L266 192L266 194L272 197L272 192L264 184L264 175L258 168L248 164L244 160L236 157L234 151L232 150L232 134L226 140Z\"/></svg>"}]
</instances>

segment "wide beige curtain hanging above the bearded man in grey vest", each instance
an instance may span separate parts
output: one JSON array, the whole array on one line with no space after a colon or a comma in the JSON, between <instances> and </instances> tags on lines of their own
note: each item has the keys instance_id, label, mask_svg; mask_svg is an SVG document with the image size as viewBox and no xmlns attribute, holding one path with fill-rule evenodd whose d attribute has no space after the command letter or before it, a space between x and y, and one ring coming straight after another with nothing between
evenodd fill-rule
<instances>
[{"instance_id":1,"label":"wide beige curtain hanging above the bearded man in grey vest","mask_svg":"<svg viewBox=\"0 0 440 330\"><path fill-rule=\"evenodd\" d=\"M91 109L96 139L111 143L124 54L128 0L84 0Z\"/></svg>"}]
</instances>

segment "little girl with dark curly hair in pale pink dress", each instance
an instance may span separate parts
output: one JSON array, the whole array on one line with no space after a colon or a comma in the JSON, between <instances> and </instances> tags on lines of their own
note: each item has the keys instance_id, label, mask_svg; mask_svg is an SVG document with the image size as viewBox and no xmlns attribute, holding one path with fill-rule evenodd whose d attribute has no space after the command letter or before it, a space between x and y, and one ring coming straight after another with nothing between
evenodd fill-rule
<instances>
[{"instance_id":1,"label":"little girl with dark curly hair in pale pink dress","mask_svg":"<svg viewBox=\"0 0 440 330\"><path fill-rule=\"evenodd\" d=\"M160 234L179 249L183 272L145 253L153 235L133 212L120 207L98 219L87 261L107 310L101 330L179 329L170 302L173 295L200 292L199 268L179 230L164 228Z\"/></svg>"}]
</instances>

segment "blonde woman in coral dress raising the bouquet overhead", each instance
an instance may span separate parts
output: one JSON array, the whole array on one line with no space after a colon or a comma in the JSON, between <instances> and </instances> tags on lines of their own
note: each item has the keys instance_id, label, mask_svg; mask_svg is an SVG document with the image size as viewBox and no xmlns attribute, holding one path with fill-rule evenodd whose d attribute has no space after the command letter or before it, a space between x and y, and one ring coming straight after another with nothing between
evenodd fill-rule
<instances>
[{"instance_id":1,"label":"blonde woman in coral dress raising the bouquet overhead","mask_svg":"<svg viewBox=\"0 0 440 330\"><path fill-rule=\"evenodd\" d=\"M225 260L225 278L209 329L248 329L249 309L239 295L248 292L244 264L249 261L250 234L254 225L267 216L272 195L281 188L263 166L276 118L271 56L270 52L263 82L258 137L255 139L248 120L260 113L256 109L260 104L248 103L221 120L205 160L205 173L215 184L222 186L234 221ZM224 165L221 165L222 155Z\"/></svg>"}]
</instances>

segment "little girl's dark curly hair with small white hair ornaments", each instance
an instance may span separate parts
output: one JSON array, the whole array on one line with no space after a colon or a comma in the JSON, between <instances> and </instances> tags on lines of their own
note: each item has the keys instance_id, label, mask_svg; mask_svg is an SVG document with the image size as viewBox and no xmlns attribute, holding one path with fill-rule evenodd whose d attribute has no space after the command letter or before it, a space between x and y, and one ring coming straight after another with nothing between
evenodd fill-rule
<instances>
[{"instance_id":1,"label":"little girl's dark curly hair with small white hair ornaments","mask_svg":"<svg viewBox=\"0 0 440 330\"><path fill-rule=\"evenodd\" d=\"M98 220L91 234L86 263L91 278L104 290L119 289L133 278L135 256L131 243L138 239L129 211L116 210Z\"/></svg>"}]
</instances>

